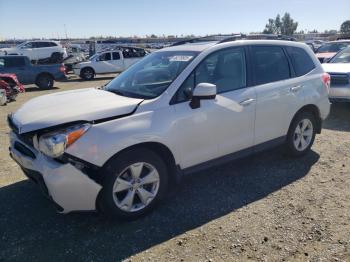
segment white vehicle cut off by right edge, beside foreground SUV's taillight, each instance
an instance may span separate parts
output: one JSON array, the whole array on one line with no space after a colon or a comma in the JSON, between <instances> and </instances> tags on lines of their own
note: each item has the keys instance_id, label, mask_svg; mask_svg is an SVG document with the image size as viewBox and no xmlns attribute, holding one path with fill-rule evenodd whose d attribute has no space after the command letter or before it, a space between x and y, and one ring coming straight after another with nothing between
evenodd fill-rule
<instances>
[{"instance_id":1,"label":"white vehicle cut off by right edge, beside foreground SUV's taillight","mask_svg":"<svg viewBox=\"0 0 350 262\"><path fill-rule=\"evenodd\" d=\"M329 98L333 101L350 102L350 46L322 66L331 76Z\"/></svg>"}]
</instances>

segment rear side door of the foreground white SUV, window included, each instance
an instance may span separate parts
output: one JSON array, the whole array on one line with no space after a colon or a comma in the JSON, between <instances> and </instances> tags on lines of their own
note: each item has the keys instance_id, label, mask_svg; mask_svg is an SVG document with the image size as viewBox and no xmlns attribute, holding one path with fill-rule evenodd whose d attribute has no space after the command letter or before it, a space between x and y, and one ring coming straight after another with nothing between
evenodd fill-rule
<instances>
[{"instance_id":1,"label":"rear side door of the foreground white SUV, window included","mask_svg":"<svg viewBox=\"0 0 350 262\"><path fill-rule=\"evenodd\" d=\"M286 50L277 45L252 45L252 70L257 94L254 144L287 135L294 114L304 104L303 84L294 78Z\"/></svg>"}]
</instances>

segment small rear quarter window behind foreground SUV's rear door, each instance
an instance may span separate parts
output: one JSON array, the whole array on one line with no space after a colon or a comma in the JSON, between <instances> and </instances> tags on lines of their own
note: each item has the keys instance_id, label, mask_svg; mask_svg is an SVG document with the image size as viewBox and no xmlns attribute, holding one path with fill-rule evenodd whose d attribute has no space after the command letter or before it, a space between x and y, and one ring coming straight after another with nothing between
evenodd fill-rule
<instances>
[{"instance_id":1,"label":"small rear quarter window behind foreground SUV's rear door","mask_svg":"<svg viewBox=\"0 0 350 262\"><path fill-rule=\"evenodd\" d=\"M296 76L303 76L315 68L309 54L300 47L287 47L288 55L292 61L294 72Z\"/></svg>"}]
</instances>

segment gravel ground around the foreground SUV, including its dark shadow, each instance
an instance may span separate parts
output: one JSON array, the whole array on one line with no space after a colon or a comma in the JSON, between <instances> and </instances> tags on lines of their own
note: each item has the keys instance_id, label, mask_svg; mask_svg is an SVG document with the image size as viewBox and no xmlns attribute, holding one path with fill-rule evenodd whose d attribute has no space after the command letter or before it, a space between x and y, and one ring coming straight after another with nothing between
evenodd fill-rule
<instances>
[{"instance_id":1,"label":"gravel ground around the foreground SUV, including its dark shadow","mask_svg":"<svg viewBox=\"0 0 350 262\"><path fill-rule=\"evenodd\" d=\"M28 87L0 107L0 261L350 261L348 104L332 106L307 156L276 148L194 174L140 220L57 214L10 160L6 115L32 97L110 79Z\"/></svg>"}]
</instances>

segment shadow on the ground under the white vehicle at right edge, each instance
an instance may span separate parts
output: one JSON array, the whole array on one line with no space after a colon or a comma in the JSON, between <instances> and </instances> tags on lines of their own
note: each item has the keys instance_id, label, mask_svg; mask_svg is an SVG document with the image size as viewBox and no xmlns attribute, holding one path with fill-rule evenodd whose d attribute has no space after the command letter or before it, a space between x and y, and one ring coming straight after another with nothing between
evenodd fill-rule
<instances>
[{"instance_id":1,"label":"shadow on the ground under the white vehicle at right edge","mask_svg":"<svg viewBox=\"0 0 350 262\"><path fill-rule=\"evenodd\" d=\"M323 123L323 128L350 131L350 103L332 103L331 112Z\"/></svg>"}]
</instances>

